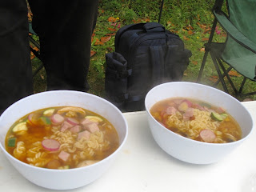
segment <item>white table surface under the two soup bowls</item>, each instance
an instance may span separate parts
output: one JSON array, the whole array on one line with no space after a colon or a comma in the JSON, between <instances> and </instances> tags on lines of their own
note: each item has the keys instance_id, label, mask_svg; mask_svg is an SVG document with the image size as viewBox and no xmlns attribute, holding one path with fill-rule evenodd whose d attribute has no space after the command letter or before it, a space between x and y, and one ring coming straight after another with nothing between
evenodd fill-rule
<instances>
[{"instance_id":1,"label":"white table surface under the two soup bowls","mask_svg":"<svg viewBox=\"0 0 256 192\"><path fill-rule=\"evenodd\" d=\"M256 102L242 102L256 125ZM166 154L154 142L146 113L124 114L129 135L114 165L102 178L71 190L86 192L249 192L256 191L256 129L250 138L220 162L193 165ZM0 191L52 191L22 178L0 150Z\"/></svg>"}]
</instances>

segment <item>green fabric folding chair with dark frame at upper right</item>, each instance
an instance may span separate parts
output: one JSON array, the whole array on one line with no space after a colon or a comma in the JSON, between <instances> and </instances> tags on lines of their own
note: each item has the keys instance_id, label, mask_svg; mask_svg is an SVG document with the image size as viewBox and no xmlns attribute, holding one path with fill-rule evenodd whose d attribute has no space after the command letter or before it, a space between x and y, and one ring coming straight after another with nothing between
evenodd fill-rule
<instances>
[{"instance_id":1,"label":"green fabric folding chair with dark frame at upper right","mask_svg":"<svg viewBox=\"0 0 256 192\"><path fill-rule=\"evenodd\" d=\"M255 0L226 0L228 14L222 11L224 0L216 0L213 8L214 23L210 32L209 41L205 44L205 54L202 59L202 66L198 74L197 82L201 81L202 72L206 64L206 58L210 56L218 73L218 81L226 93L229 94L226 77L236 96L256 94L256 91L242 93L242 88L247 79L256 81L256 1ZM226 42L213 42L214 31L217 23L227 33ZM226 62L225 67L222 62ZM230 75L230 70L236 70L244 77L240 87L235 87ZM238 88L238 89L237 89Z\"/></svg>"}]
</instances>

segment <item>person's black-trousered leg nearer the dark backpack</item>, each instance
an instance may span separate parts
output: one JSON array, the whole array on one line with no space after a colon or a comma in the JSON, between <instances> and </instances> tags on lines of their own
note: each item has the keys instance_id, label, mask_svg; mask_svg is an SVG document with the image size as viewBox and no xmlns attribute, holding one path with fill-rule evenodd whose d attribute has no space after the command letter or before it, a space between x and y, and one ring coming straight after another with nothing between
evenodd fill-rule
<instances>
[{"instance_id":1,"label":"person's black-trousered leg nearer the dark backpack","mask_svg":"<svg viewBox=\"0 0 256 192\"><path fill-rule=\"evenodd\" d=\"M86 76L98 0L33 0L30 7L48 90L88 90Z\"/></svg>"}]
</instances>

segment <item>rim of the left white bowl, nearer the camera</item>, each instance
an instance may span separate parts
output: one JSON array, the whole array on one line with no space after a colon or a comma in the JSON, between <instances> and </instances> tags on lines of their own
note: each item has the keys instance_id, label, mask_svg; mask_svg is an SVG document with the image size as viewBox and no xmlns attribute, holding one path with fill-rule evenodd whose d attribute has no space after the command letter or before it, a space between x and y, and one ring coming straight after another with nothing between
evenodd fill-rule
<instances>
[{"instance_id":1,"label":"rim of the left white bowl, nearer the camera","mask_svg":"<svg viewBox=\"0 0 256 192\"><path fill-rule=\"evenodd\" d=\"M54 94L54 93L64 93L64 94L69 94L69 93L74 93L74 94L84 94L84 95L90 95L91 97L93 98L96 98L96 99L99 99L99 100L102 100L102 102L106 102L108 103L110 106L114 107L115 110L117 110L118 114L120 114L120 116L122 117L122 120L125 124L125 135L124 135L124 138L122 140L122 142L120 143L120 145L118 146L118 148L116 150L114 150L114 152L112 154L110 154L109 156L107 156L106 158L103 158L102 160L100 160L99 162L95 162L94 164L91 164L89 166L82 166L82 167L76 167L76 168L72 168L72 169L67 169L67 170L58 170L58 169L47 169L47 168L44 168L44 167L38 167L38 166L32 166L26 162L22 162L20 160L18 160L17 158L14 158L14 156L12 156L11 154L9 154L5 147L2 146L2 143L0 142L0 149L4 152L4 154L6 154L6 156L8 156L8 158L11 158L14 162L18 163L18 164L22 164L23 166L27 166L29 169L34 169L34 170L43 170L43 171L47 171L47 172L70 172L70 171L76 171L76 170L86 170L86 169L89 169L90 167L93 167L93 166L98 166L104 162L106 162L108 159L112 158L113 156L115 156L115 154L117 154L121 149L122 149L122 146L124 146L124 144L126 143L126 140L127 140L127 137L128 137L128 123L126 121L126 118L123 116L121 110L118 109L117 106L114 106L114 104L112 104L111 102L107 101L106 99L104 98L101 98L97 95L94 95L94 94L89 94L89 93L86 93L86 92L82 92L82 91L78 91L78 90L49 90L49 91L45 91L45 92L41 92L41 93L37 93L37 94L31 94L25 98L22 98L22 99L19 99L17 102L14 102L12 105L10 105L0 116L0 122L2 120L2 117L4 116L3 114L6 113L7 110L10 110L11 108L13 108L14 106L18 105L18 103L20 102L23 102L27 99L30 99L30 98L34 98L34 97L37 97L38 95L43 95L43 94ZM6 135L5 135L5 138L6 138Z\"/></svg>"}]
</instances>

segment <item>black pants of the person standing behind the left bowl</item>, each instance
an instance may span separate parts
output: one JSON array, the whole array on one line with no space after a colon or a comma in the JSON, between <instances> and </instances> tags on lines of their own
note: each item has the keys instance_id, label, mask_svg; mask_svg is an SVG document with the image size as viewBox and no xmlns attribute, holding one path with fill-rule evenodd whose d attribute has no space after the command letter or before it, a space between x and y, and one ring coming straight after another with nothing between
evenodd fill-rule
<instances>
[{"instance_id":1,"label":"black pants of the person standing behind the left bowl","mask_svg":"<svg viewBox=\"0 0 256 192\"><path fill-rule=\"evenodd\" d=\"M98 0L31 0L48 90L89 89L90 40ZM0 1L0 114L33 94L25 0Z\"/></svg>"}]
</instances>

